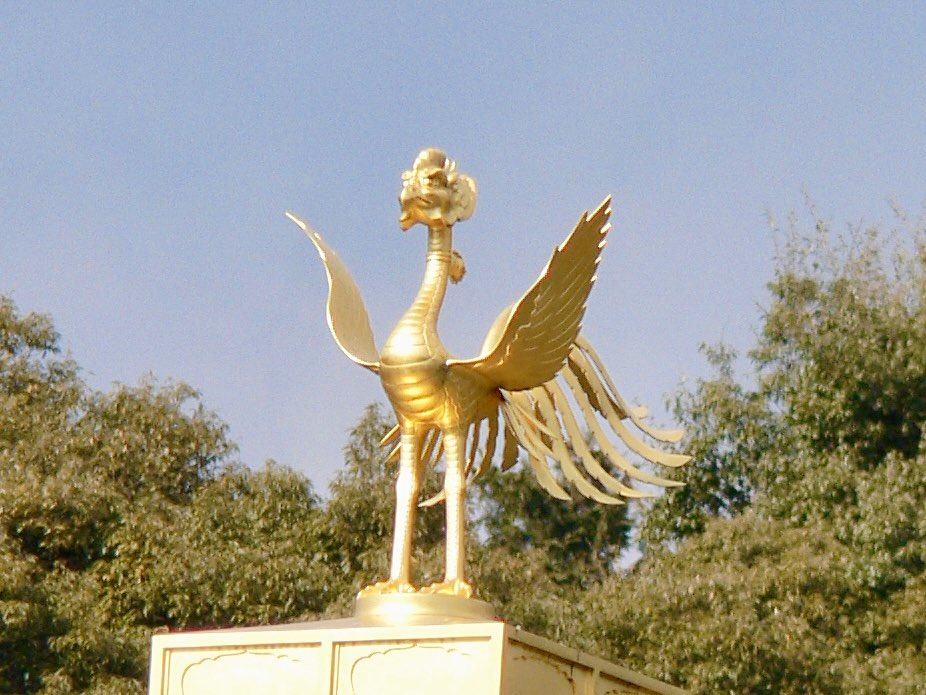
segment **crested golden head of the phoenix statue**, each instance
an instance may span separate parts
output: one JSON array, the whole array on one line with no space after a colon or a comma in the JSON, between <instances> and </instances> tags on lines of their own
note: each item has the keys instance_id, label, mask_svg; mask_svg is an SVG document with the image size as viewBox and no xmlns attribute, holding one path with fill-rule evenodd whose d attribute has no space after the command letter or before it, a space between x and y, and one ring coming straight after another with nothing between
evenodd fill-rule
<instances>
[{"instance_id":1,"label":"crested golden head of the phoenix statue","mask_svg":"<svg viewBox=\"0 0 926 695\"><path fill-rule=\"evenodd\" d=\"M458 173L454 161L441 150L429 147L402 174L399 204L403 230L419 222L430 228L450 227L476 209L476 182Z\"/></svg>"}]
</instances>

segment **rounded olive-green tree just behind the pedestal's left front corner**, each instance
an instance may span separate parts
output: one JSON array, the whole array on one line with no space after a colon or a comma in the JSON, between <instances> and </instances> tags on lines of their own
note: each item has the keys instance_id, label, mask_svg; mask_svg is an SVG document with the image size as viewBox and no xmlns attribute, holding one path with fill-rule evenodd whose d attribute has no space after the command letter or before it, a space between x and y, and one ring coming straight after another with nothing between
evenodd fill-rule
<instances>
[{"instance_id":1,"label":"rounded olive-green tree just behind the pedestal's left front corner","mask_svg":"<svg viewBox=\"0 0 926 695\"><path fill-rule=\"evenodd\" d=\"M94 571L122 621L229 626L317 617L332 600L322 511L302 475L228 466L188 504L136 507Z\"/></svg>"}]
</instances>

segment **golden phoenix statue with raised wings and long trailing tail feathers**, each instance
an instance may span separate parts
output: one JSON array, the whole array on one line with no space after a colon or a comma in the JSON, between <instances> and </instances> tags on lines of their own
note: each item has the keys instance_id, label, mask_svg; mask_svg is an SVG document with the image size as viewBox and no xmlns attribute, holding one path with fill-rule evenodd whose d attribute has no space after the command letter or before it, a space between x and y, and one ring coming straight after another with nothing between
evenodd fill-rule
<instances>
[{"instance_id":1,"label":"golden phoenix statue with raised wings and long trailing tail feathers","mask_svg":"<svg viewBox=\"0 0 926 695\"><path fill-rule=\"evenodd\" d=\"M561 500L571 497L551 469L551 461L575 490L603 504L652 496L627 485L627 479L662 487L680 485L628 461L599 417L627 449L648 461L677 467L689 457L656 449L630 431L625 421L661 442L682 437L679 430L648 426L646 409L631 407L621 398L598 354L580 335L585 303L610 229L610 197L579 218L540 277L499 314L481 354L461 360L441 342L437 319L448 280L459 282L465 272L462 257L453 249L453 226L473 214L476 183L459 173L438 149L423 150L402 181L399 226L406 231L418 223L428 228L425 271L411 307L381 351L376 349L363 298L347 268L318 232L292 213L287 216L312 240L325 265L328 326L335 342L351 360L379 374L398 421L382 442L397 441L389 459L399 460L391 571L388 580L363 589L360 595L418 592L469 598L473 587L465 579L464 493L470 475L479 476L492 464L499 435L504 440L502 470L513 466L523 449L539 483ZM593 446L619 469L619 477L602 466ZM436 465L442 455L443 490L419 505L425 467ZM410 567L415 513L419 506L441 501L447 520L444 581L419 590L411 583Z\"/></svg>"}]
</instances>

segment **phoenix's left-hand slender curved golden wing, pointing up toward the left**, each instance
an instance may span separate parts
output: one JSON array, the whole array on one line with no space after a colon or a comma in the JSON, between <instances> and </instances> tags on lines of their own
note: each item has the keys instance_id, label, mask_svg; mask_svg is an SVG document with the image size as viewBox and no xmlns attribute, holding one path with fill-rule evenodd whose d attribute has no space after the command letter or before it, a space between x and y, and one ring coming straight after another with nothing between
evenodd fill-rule
<instances>
[{"instance_id":1,"label":"phoenix's left-hand slender curved golden wing, pointing up toward the left","mask_svg":"<svg viewBox=\"0 0 926 695\"><path fill-rule=\"evenodd\" d=\"M312 240L322 263L325 264L325 273L328 275L328 327L331 329L334 342L354 362L378 372L379 351L373 342L370 317L363 304L360 288L347 267L318 232L293 213L287 212L286 216L299 225Z\"/></svg>"}]
</instances>

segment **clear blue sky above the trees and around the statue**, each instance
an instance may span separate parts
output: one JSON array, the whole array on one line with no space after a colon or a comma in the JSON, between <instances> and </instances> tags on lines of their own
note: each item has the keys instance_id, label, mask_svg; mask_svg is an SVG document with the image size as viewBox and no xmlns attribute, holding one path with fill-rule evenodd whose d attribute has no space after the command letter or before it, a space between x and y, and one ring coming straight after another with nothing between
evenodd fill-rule
<instances>
[{"instance_id":1,"label":"clear blue sky above the trees and around the statue","mask_svg":"<svg viewBox=\"0 0 926 695\"><path fill-rule=\"evenodd\" d=\"M926 201L926 8L772 4L0 5L0 292L50 312L95 386L183 379L323 487L378 381L336 350L338 249L380 343L420 280L399 175L475 177L444 342L474 354L613 193L586 331L632 400L751 344L773 236ZM665 419L665 416L662 416Z\"/></svg>"}]
</instances>

